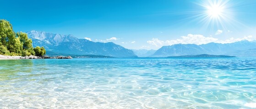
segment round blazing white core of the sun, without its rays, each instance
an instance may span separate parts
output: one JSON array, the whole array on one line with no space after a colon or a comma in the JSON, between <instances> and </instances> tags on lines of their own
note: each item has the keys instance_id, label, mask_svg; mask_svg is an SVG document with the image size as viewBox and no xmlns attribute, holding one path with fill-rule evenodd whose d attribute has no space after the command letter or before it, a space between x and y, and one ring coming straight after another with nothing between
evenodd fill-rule
<instances>
[{"instance_id":1,"label":"round blazing white core of the sun, without its rays","mask_svg":"<svg viewBox=\"0 0 256 109\"><path fill-rule=\"evenodd\" d=\"M223 14L223 7L220 5L207 6L207 14L212 18L220 17Z\"/></svg>"}]
</instances>

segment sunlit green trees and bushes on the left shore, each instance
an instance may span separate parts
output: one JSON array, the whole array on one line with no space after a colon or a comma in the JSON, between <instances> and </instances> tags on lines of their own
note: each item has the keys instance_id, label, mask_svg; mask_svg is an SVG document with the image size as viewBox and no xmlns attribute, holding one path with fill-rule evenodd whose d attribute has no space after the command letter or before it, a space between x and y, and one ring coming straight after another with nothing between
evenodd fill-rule
<instances>
[{"instance_id":1,"label":"sunlit green trees and bushes on the left shore","mask_svg":"<svg viewBox=\"0 0 256 109\"><path fill-rule=\"evenodd\" d=\"M34 50L37 50L38 54ZM0 54L42 56L46 54L46 51L44 47L39 50L38 48L33 49L32 40L27 37L26 33L15 33L9 21L0 20Z\"/></svg>"}]
</instances>

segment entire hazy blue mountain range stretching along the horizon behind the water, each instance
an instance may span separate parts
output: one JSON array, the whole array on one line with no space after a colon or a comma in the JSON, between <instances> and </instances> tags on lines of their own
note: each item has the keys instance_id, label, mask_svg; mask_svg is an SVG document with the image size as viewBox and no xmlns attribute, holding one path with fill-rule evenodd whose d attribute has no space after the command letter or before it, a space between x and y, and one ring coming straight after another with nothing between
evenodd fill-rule
<instances>
[{"instance_id":1,"label":"entire hazy blue mountain range stretching along the horizon behind the water","mask_svg":"<svg viewBox=\"0 0 256 109\"><path fill-rule=\"evenodd\" d=\"M232 55L237 57L256 57L256 41L242 40L234 43L208 43L203 45L175 44L163 46L158 50L128 50L113 42L93 42L78 39L73 35L60 35L40 31L27 32L33 46L44 46L48 55L93 55L93 57L168 57L181 55Z\"/></svg>"}]
</instances>

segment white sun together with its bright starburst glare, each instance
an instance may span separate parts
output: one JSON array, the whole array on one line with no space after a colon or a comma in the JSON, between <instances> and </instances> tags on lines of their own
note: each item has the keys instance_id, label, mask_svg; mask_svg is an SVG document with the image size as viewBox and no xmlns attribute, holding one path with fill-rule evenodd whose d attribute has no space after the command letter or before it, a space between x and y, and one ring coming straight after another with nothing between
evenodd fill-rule
<instances>
[{"instance_id":1,"label":"white sun together with its bright starburst glare","mask_svg":"<svg viewBox=\"0 0 256 109\"><path fill-rule=\"evenodd\" d=\"M225 30L227 25L233 25L237 21L234 19L234 5L230 0L201 0L196 3L202 6L202 10L194 11L196 14L191 18L200 20L204 24L204 28Z\"/></svg>"}]
</instances>

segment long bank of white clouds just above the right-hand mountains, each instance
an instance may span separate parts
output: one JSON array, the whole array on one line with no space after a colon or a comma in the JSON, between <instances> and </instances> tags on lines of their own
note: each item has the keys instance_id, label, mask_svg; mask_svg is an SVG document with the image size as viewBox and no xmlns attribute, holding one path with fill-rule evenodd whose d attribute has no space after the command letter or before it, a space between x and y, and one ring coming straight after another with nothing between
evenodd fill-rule
<instances>
[{"instance_id":1,"label":"long bank of white clouds just above the right-hand mountains","mask_svg":"<svg viewBox=\"0 0 256 109\"><path fill-rule=\"evenodd\" d=\"M150 45L155 45L155 46L163 46L163 45L174 45L174 44L196 44L196 45L202 45L202 44L207 44L207 43L211 43L211 42L215 42L215 43L233 43L233 42L237 42L237 41L241 41L241 40L248 40L248 41L252 41L252 40L256 40L255 37L253 37L252 35L249 36L244 36L243 38L230 38L227 40L219 40L217 38L213 38L213 37L205 37L203 35L192 35L189 34L187 36L181 36L180 39L176 39L176 40L158 40L158 38L153 38L152 40L148 40L147 43Z\"/></svg>"}]
</instances>

